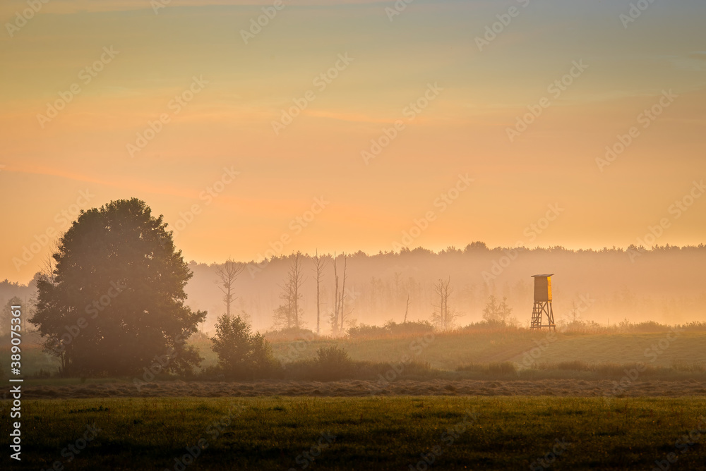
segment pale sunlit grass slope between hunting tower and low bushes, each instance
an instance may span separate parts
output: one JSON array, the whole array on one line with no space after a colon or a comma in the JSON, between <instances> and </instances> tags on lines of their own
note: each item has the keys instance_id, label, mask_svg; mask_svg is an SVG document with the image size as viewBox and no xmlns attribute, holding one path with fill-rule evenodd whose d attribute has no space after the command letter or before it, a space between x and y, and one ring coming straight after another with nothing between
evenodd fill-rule
<instances>
[{"instance_id":1,"label":"pale sunlit grass slope between hunting tower and low bushes","mask_svg":"<svg viewBox=\"0 0 706 471\"><path fill-rule=\"evenodd\" d=\"M666 334L556 334L555 341L547 341L547 347L542 350L537 362L650 362L656 367L671 367L678 362L706 364L706 348L703 348L706 332L700 331L683 332L667 348L659 349L659 355L652 362L653 357L645 356L645 350L652 345L657 346ZM418 362L428 362L432 368L454 370L471 363L521 363L525 353L537 348L535 342L543 343L546 339L546 331L491 331L436 334L429 343L421 336L357 341L318 340L300 343L303 350L298 358L314 357L318 348L337 344L345 348L353 360L395 362L407 354ZM413 341L417 343L410 346ZM282 360L296 345L292 342L273 343L273 351Z\"/></svg>"}]
</instances>

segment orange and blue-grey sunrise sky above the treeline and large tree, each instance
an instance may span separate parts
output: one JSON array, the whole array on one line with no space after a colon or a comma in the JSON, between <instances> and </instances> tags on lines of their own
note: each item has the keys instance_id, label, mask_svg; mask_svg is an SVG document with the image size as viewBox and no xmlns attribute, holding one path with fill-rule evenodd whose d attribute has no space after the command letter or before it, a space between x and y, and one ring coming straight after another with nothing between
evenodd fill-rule
<instances>
[{"instance_id":1,"label":"orange and blue-grey sunrise sky above the treeline and large tree","mask_svg":"<svg viewBox=\"0 0 706 471\"><path fill-rule=\"evenodd\" d=\"M704 243L702 18L686 0L6 0L0 279L131 197L207 263Z\"/></svg>"}]
</instances>

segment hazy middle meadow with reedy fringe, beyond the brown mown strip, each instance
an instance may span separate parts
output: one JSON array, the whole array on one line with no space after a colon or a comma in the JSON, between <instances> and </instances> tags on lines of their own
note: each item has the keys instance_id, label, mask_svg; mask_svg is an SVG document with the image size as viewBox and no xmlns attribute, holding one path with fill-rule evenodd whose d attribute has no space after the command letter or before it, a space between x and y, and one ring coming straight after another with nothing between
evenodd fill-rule
<instances>
[{"instance_id":1,"label":"hazy middle meadow with reedy fringe, beyond the brown mown strip","mask_svg":"<svg viewBox=\"0 0 706 471\"><path fill-rule=\"evenodd\" d=\"M191 343L204 358L202 370L216 365L217 356L208 336L195 336ZM298 374L297 362L311 361L319 349L337 346L351 360L367 364L364 372L351 379L374 379L400 364L405 365L407 379L619 379L626 367L644 365L642 379L706 381L703 330L554 334L495 329L375 338L274 337L270 343L285 372L289 370L285 379L316 379ZM8 353L8 347L0 348L3 363L9 361ZM2 366L7 372L9 365ZM30 384L79 381L57 378L58 362L36 343L23 346L23 372L30 377ZM162 375L160 379L169 378Z\"/></svg>"}]
</instances>

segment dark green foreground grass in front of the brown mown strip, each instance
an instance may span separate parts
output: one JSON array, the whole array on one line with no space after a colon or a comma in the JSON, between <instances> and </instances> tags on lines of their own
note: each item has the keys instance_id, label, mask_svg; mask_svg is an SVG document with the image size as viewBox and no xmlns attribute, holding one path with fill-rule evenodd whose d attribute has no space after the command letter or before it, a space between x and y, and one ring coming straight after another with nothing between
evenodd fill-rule
<instances>
[{"instance_id":1,"label":"dark green foreground grass in front of the brown mown strip","mask_svg":"<svg viewBox=\"0 0 706 471\"><path fill-rule=\"evenodd\" d=\"M230 410L232 420L222 420ZM477 416L469 418L469 411ZM703 397L26 400L22 467L2 467L41 469L65 459L61 450L92 422L101 429L97 438L64 463L67 470L174 469L174 458L201 438L208 448L189 470L299 470L302 453L323 432L335 441L307 470L409 470L434 446L443 453L430 470L530 469L557 439L569 445L551 464L555 470L651 470L669 453L678 456L673 469L703 470L706 434L686 453L676 446L703 415ZM215 437L208 429L219 420ZM701 425L706 430L706 420ZM459 427L453 444L442 438L450 427ZM7 450L8 421L1 436Z\"/></svg>"}]
</instances>

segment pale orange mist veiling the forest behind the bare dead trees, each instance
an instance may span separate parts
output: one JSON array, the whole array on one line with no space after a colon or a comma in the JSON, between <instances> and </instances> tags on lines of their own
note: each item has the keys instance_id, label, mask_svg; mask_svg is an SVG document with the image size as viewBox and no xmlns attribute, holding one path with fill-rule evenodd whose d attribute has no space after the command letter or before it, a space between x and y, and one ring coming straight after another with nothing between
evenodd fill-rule
<instances>
[{"instance_id":1,"label":"pale orange mist veiling the forest behind the bare dead trees","mask_svg":"<svg viewBox=\"0 0 706 471\"><path fill-rule=\"evenodd\" d=\"M233 310L245 313L254 329L273 329L273 313L282 305L282 284L294 255L243 262L244 271L234 283ZM332 255L323 255L328 264L321 278L321 333L330 334L334 280ZM342 255L338 255L342 259ZM494 248L472 243L438 253L417 248L400 252L348 257L347 307L357 324L383 325L408 321L429 321L436 299L433 285L450 277L453 305L461 317L457 326L483 320L489 296L507 298L511 318L527 326L532 313L534 274L554 274L554 316L566 324L573 319L602 325L628 319L659 324L685 324L705 317L706 247L657 247L646 250L631 247L604 250L551 248ZM225 312L222 292L217 285L217 268L222 264L190 262L193 278L186 284L186 304L193 310L206 310L201 326L213 331L218 315ZM313 257L302 259L304 283L301 288L301 320L305 329L316 330L316 280ZM0 283L0 304L13 295L30 299L35 286L27 288ZM509 319L508 319L509 320ZM349 326L349 325L348 325Z\"/></svg>"}]
</instances>

